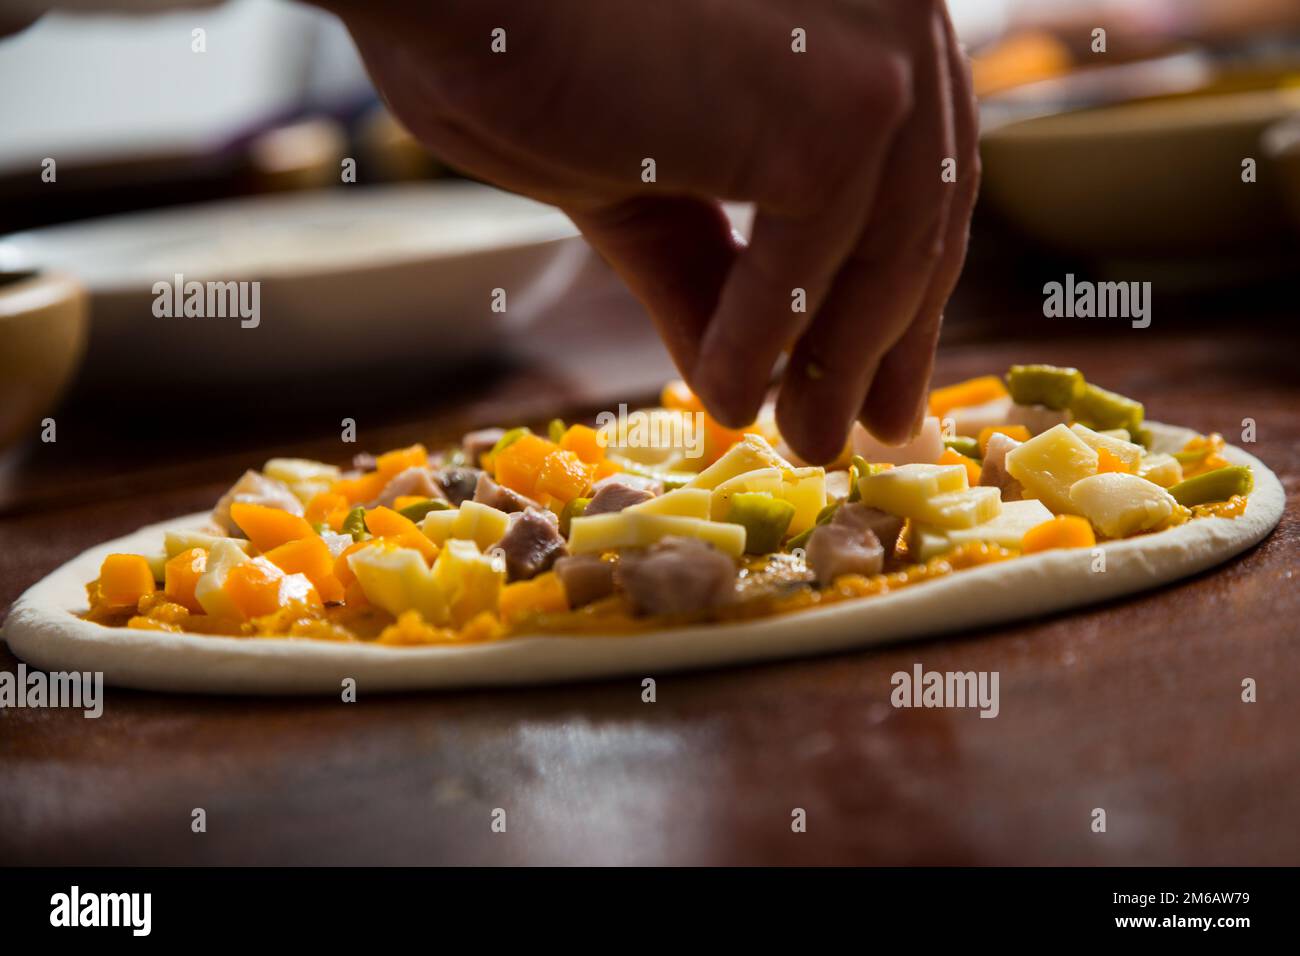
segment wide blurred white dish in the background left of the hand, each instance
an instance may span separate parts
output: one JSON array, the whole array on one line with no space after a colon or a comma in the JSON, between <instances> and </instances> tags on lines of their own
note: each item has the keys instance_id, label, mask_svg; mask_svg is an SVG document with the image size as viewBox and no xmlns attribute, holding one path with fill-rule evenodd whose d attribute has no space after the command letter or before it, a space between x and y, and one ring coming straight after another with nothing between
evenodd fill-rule
<instances>
[{"instance_id":1,"label":"wide blurred white dish in the background left of the hand","mask_svg":"<svg viewBox=\"0 0 1300 956\"><path fill-rule=\"evenodd\" d=\"M445 364L536 319L588 258L558 209L468 182L205 203L0 239L0 271L53 269L87 287L84 372L109 384ZM156 317L153 285L177 273L260 281L260 324Z\"/></svg>"}]
</instances>

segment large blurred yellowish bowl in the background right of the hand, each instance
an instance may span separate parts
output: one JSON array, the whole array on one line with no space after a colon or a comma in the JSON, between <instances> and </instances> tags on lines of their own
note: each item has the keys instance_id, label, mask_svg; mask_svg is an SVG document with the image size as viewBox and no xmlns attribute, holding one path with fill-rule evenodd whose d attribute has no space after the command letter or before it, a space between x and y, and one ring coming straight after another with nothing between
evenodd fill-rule
<instances>
[{"instance_id":1,"label":"large blurred yellowish bowl in the background right of the hand","mask_svg":"<svg viewBox=\"0 0 1300 956\"><path fill-rule=\"evenodd\" d=\"M1283 237L1260 137L1300 88L1208 91L1013 122L982 139L983 200L1062 251L1170 255ZM1243 160L1258 164L1243 182Z\"/></svg>"}]
</instances>

